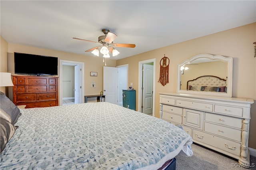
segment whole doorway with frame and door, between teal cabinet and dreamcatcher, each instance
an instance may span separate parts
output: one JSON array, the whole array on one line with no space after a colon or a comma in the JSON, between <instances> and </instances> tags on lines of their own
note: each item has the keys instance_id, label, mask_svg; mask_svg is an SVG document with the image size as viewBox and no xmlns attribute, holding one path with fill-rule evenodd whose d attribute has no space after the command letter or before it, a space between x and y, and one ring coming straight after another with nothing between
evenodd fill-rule
<instances>
[{"instance_id":1,"label":"whole doorway with frame and door, between teal cabinet and dreamcatcher","mask_svg":"<svg viewBox=\"0 0 256 170\"><path fill-rule=\"evenodd\" d=\"M138 111L155 116L155 70L156 59L139 62Z\"/></svg>"}]
</instances>

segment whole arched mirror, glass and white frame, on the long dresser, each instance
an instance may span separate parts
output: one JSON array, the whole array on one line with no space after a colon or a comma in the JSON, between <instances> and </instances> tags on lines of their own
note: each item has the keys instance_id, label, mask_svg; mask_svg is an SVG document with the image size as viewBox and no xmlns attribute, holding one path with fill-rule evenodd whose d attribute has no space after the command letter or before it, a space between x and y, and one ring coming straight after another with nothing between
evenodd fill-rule
<instances>
[{"instance_id":1,"label":"whole arched mirror, glass and white frame, on the long dresser","mask_svg":"<svg viewBox=\"0 0 256 170\"><path fill-rule=\"evenodd\" d=\"M221 55L211 54L195 55L194 57L186 59L182 63L178 64L177 93L232 97L232 70L232 57L224 57ZM197 77L204 77L206 75L211 75L212 77L220 77L220 79L224 79L224 81L226 80L226 83L223 82L223 86L226 86L225 92L216 93L212 89L209 90L209 87L206 88L206 91L201 91L201 89L198 90L199 87L197 88L197 90L188 90L188 85L186 84L187 81L196 79ZM202 80L200 79L200 81ZM209 80L207 80L207 82L208 81ZM205 84L202 84L200 86L205 86Z\"/></svg>"}]
</instances>

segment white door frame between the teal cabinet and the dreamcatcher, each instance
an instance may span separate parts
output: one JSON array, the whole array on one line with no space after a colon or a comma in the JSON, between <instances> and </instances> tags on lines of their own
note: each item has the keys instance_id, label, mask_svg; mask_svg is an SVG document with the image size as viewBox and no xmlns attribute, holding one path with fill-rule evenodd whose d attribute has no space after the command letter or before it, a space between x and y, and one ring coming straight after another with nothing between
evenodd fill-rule
<instances>
[{"instance_id":1,"label":"white door frame between the teal cabinet and the dreamcatcher","mask_svg":"<svg viewBox=\"0 0 256 170\"><path fill-rule=\"evenodd\" d=\"M148 60L144 60L144 61L139 61L139 69L138 69L138 112L142 112L142 109L141 109L141 106L142 106L142 103L141 103L141 98L142 98L142 65L143 64L146 64L146 63L154 63L153 65L153 113L152 113L152 116L155 116L155 83L156 83L156 59L153 58L153 59L148 59Z\"/></svg>"}]
</instances>

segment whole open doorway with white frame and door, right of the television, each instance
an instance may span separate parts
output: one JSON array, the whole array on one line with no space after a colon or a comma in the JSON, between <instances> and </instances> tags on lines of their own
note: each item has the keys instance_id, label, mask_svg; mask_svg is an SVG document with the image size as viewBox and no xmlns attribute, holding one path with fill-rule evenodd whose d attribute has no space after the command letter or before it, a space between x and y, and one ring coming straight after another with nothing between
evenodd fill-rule
<instances>
[{"instance_id":1,"label":"whole open doorway with white frame and door, right of the television","mask_svg":"<svg viewBox=\"0 0 256 170\"><path fill-rule=\"evenodd\" d=\"M68 66L68 67L66 67ZM64 79L64 69L73 69L73 72L68 77L68 79ZM84 63L78 61L68 61L68 60L60 60L60 94L59 94L59 105L63 105L63 93L67 91L67 87L70 87L68 91L73 91L74 93L74 104L76 103L84 103ZM66 76L66 75L65 75ZM73 81L72 81L73 80ZM74 83L73 83L74 82ZM66 85L64 85L64 83ZM67 85L70 83L70 85ZM64 89L65 87L65 89ZM70 92L71 93L71 92ZM65 99L65 98L64 98ZM72 103L71 103L72 104Z\"/></svg>"}]
</instances>

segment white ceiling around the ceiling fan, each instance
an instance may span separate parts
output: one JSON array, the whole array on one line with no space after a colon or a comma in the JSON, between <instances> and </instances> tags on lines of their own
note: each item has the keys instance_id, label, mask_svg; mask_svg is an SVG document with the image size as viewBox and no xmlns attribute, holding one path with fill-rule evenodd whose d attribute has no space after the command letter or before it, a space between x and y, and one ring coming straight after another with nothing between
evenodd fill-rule
<instances>
[{"instance_id":1,"label":"white ceiling around the ceiling fan","mask_svg":"<svg viewBox=\"0 0 256 170\"><path fill-rule=\"evenodd\" d=\"M104 35L118 35L114 43L121 59L186 40L256 22L256 0L222 1L10 1L1 0L1 36L8 43L94 56L87 49Z\"/></svg>"}]
</instances>

